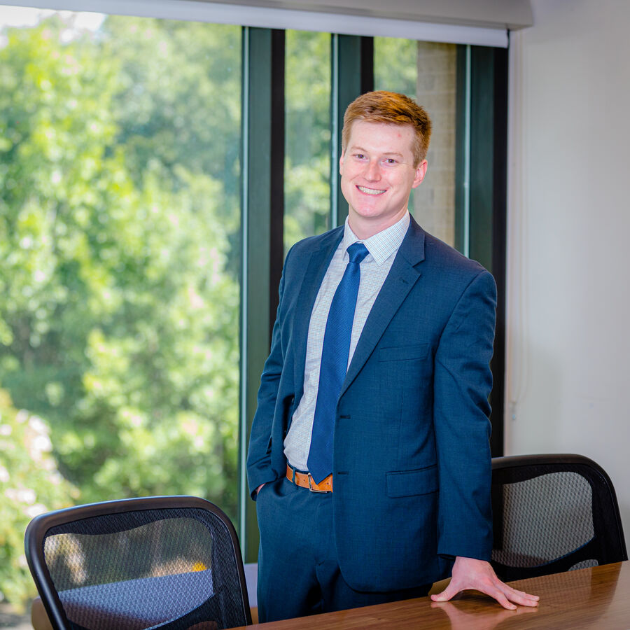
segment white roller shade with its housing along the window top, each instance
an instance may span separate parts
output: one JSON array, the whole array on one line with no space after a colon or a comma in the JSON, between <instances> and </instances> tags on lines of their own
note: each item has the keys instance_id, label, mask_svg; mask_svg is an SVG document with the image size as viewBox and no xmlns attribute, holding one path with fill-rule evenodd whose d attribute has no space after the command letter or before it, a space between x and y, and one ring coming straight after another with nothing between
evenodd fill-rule
<instances>
[{"instance_id":1,"label":"white roller shade with its housing along the window top","mask_svg":"<svg viewBox=\"0 0 630 630\"><path fill-rule=\"evenodd\" d=\"M529 0L0 0L0 5L499 47L507 46L507 29L532 22Z\"/></svg>"}]
</instances>

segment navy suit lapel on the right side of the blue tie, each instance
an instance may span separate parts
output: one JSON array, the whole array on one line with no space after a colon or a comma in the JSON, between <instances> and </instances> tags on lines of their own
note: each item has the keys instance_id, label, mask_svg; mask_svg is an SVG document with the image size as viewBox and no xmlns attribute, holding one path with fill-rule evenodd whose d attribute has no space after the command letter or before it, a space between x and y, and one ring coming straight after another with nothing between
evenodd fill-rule
<instances>
[{"instance_id":1,"label":"navy suit lapel on the right side of the blue tie","mask_svg":"<svg viewBox=\"0 0 630 630\"><path fill-rule=\"evenodd\" d=\"M424 260L424 231L412 217L405 239L400 244L391 269L365 321L339 396L344 394L356 378L400 308L400 304L418 281L421 272L416 269L416 265L422 260Z\"/></svg>"}]
</instances>

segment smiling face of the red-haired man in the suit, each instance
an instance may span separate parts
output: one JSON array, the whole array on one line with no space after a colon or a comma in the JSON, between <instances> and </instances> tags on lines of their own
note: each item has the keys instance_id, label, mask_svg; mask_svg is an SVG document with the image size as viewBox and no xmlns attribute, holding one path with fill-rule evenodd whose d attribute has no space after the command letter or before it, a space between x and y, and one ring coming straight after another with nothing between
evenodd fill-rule
<instances>
[{"instance_id":1,"label":"smiling face of the red-haired man in the suit","mask_svg":"<svg viewBox=\"0 0 630 630\"><path fill-rule=\"evenodd\" d=\"M414 167L413 141L411 125L353 123L339 173L350 227L360 239L385 230L405 214L409 193L426 173L426 160Z\"/></svg>"}]
</instances>

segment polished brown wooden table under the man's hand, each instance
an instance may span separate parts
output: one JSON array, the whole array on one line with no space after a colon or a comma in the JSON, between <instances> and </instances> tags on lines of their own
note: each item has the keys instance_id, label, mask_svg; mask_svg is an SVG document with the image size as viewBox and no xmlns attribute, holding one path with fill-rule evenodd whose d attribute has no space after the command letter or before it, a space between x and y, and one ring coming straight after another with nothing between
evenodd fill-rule
<instances>
[{"instance_id":1,"label":"polished brown wooden table under the man's hand","mask_svg":"<svg viewBox=\"0 0 630 630\"><path fill-rule=\"evenodd\" d=\"M539 595L538 608L505 610L490 598L469 591L450 602L434 603L428 597L421 597L255 624L247 626L247 630L630 629L630 561L533 577L511 584Z\"/></svg>"}]
</instances>

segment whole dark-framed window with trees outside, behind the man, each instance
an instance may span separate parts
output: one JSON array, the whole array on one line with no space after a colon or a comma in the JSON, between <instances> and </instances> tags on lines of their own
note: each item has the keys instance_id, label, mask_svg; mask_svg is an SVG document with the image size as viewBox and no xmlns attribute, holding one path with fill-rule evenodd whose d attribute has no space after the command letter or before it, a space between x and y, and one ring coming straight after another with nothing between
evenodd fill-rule
<instances>
[{"instance_id":1,"label":"whole dark-framed window with trees outside, behind the man","mask_svg":"<svg viewBox=\"0 0 630 630\"><path fill-rule=\"evenodd\" d=\"M501 290L504 53L3 7L0 594L31 588L31 516L114 496L214 500L255 561L248 426L283 253L337 221L338 113L372 70L375 89L426 106L429 170L410 210L449 244L470 241Z\"/></svg>"}]
</instances>

